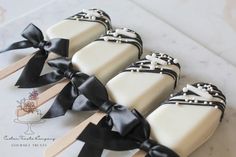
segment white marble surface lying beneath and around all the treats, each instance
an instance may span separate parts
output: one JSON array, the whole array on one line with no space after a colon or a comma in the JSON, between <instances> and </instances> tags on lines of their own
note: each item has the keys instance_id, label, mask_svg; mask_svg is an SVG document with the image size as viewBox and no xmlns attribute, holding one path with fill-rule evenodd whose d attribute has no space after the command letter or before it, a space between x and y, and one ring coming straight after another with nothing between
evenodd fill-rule
<instances>
[{"instance_id":1,"label":"white marble surface lying beneath and around all the treats","mask_svg":"<svg viewBox=\"0 0 236 157\"><path fill-rule=\"evenodd\" d=\"M41 9L31 11L29 14L19 16L19 18L2 25L0 47L19 40L22 29L29 22L33 22L45 30L53 23L83 8L101 8L111 16L114 26L127 27L139 32L146 49L164 51L179 59L182 65L182 76L178 89L181 89L186 83L205 81L216 84L223 90L227 97L225 118L213 137L192 153L191 157L234 157L236 154L236 139L234 138L236 130L235 29L234 26L231 26L234 24L228 24L227 20L218 19L223 14L221 4L228 1L230 0L207 2L203 0L174 0L173 2L170 0L150 0L148 2L144 0L52 1L42 6ZM228 7L233 8L232 6ZM232 9L230 12L234 14L235 10ZM232 21L233 19L232 15ZM1 54L0 68L23 55L22 51L14 52L14 56L13 53ZM0 104L2 106L0 110L0 153L5 154L6 157L16 157L19 156L19 153L25 157L41 157L45 149L44 145L14 147L11 146L12 143L26 141L4 139L6 135L24 135L23 132L26 128L26 125L13 122L15 108L18 105L16 101L27 97L28 92L31 91L30 89L21 90L13 87L19 74L20 71L0 81ZM45 112L50 103L52 101L48 102L45 108L41 108L42 112ZM70 112L65 117L35 124L33 125L34 136L60 137L86 116L85 113ZM26 143L32 144L34 142L48 145L52 141L31 140ZM77 142L60 156L76 156L79 147L81 147L81 143ZM128 157L132 153L105 152L104 156Z\"/></svg>"}]
</instances>

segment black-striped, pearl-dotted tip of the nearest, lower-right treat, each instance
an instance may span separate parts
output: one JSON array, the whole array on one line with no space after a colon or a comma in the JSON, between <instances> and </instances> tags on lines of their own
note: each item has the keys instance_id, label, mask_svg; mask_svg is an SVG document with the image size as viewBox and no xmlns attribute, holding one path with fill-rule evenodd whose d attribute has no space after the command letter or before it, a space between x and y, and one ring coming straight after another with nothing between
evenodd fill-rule
<instances>
[{"instance_id":1,"label":"black-striped, pearl-dotted tip of the nearest, lower-right treat","mask_svg":"<svg viewBox=\"0 0 236 157\"><path fill-rule=\"evenodd\" d=\"M192 85L187 84L182 91L175 95L171 95L169 100L163 105L165 104L215 107L221 110L222 120L225 111L226 98L216 86L199 82Z\"/></svg>"}]
</instances>

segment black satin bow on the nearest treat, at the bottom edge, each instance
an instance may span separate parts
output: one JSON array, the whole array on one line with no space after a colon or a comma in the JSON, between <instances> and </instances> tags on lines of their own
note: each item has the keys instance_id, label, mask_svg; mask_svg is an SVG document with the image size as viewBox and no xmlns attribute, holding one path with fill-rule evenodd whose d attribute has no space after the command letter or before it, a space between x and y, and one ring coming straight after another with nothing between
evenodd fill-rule
<instances>
[{"instance_id":1,"label":"black satin bow on the nearest treat, at the bottom edge","mask_svg":"<svg viewBox=\"0 0 236 157\"><path fill-rule=\"evenodd\" d=\"M126 151L136 148L145 151L146 157L179 157L171 149L149 139L150 125L137 111L132 112L138 117L140 123L126 136L111 131L108 127L90 123L77 138L85 142L84 147L89 146L90 150L86 151L86 148L83 148L79 157L100 157L101 153L98 154L98 152L102 152L103 149Z\"/></svg>"}]
</instances>

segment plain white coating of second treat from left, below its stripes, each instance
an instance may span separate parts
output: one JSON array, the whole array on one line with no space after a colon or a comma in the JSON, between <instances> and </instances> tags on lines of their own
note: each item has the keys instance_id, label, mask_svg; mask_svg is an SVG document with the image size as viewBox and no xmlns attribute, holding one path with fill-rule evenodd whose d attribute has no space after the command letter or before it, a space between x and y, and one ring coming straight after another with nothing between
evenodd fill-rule
<instances>
[{"instance_id":1,"label":"plain white coating of second treat from left, below its stripes","mask_svg":"<svg viewBox=\"0 0 236 157\"><path fill-rule=\"evenodd\" d=\"M104 40L108 37L100 37L98 41L85 46L72 57L76 69L88 75L95 75L102 83L106 83L137 60L140 53L138 47L131 43Z\"/></svg>"}]
</instances>

